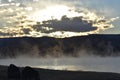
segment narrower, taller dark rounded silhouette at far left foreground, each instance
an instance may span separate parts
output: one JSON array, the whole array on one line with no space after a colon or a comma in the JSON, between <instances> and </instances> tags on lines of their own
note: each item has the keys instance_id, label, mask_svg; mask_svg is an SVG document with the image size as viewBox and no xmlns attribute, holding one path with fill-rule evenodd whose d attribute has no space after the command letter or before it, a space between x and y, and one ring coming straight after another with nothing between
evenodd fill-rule
<instances>
[{"instance_id":1,"label":"narrower, taller dark rounded silhouette at far left foreground","mask_svg":"<svg viewBox=\"0 0 120 80\"><path fill-rule=\"evenodd\" d=\"M14 64L8 66L8 80L20 80L20 70Z\"/></svg>"}]
</instances>

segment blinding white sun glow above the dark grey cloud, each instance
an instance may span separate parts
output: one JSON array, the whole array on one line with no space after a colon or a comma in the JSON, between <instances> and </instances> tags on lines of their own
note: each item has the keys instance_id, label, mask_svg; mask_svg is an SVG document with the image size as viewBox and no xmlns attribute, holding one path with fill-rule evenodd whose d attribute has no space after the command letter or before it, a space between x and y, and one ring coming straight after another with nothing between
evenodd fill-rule
<instances>
[{"instance_id":1,"label":"blinding white sun glow above the dark grey cloud","mask_svg":"<svg viewBox=\"0 0 120 80\"><path fill-rule=\"evenodd\" d=\"M37 22L47 21L51 19L60 20L64 15L66 15L67 17L80 16L80 14L72 11L71 8L68 6L55 5L34 12L32 15L29 16L29 19Z\"/></svg>"}]
</instances>

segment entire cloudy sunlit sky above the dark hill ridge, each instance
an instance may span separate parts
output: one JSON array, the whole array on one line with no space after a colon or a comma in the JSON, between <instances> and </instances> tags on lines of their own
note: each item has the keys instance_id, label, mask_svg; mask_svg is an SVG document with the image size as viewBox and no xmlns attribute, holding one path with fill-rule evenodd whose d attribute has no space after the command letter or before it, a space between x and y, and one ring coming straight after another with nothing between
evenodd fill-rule
<instances>
[{"instance_id":1,"label":"entire cloudy sunlit sky above the dark hill ridge","mask_svg":"<svg viewBox=\"0 0 120 80\"><path fill-rule=\"evenodd\" d=\"M120 34L120 0L1 0L0 37Z\"/></svg>"}]
</instances>

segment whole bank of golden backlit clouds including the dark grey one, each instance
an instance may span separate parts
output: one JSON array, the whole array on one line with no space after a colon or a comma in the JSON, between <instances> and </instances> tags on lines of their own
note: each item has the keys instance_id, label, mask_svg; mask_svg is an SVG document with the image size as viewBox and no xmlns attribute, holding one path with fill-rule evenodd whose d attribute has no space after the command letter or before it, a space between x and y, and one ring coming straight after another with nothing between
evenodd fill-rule
<instances>
[{"instance_id":1,"label":"whole bank of golden backlit clouds including the dark grey one","mask_svg":"<svg viewBox=\"0 0 120 80\"><path fill-rule=\"evenodd\" d=\"M59 1L53 0L53 3L47 1L48 6L43 0L35 0L29 4L28 2L1 4L0 37L65 38L95 34L113 28L112 22L119 18L107 19L85 8L71 6L66 1L61 1L59 5Z\"/></svg>"}]
</instances>

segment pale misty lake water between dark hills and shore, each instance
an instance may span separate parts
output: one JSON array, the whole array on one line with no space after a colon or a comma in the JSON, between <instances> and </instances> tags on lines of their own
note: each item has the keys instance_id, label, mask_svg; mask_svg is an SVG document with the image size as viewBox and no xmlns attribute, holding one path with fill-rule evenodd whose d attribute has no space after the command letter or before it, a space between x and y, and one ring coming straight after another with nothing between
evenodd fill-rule
<instances>
[{"instance_id":1,"label":"pale misty lake water between dark hills and shore","mask_svg":"<svg viewBox=\"0 0 120 80\"><path fill-rule=\"evenodd\" d=\"M33 66L37 68L72 70L72 71L100 71L120 73L120 57L80 57L80 58L25 58L1 59L0 65L11 63L17 66Z\"/></svg>"}]
</instances>

